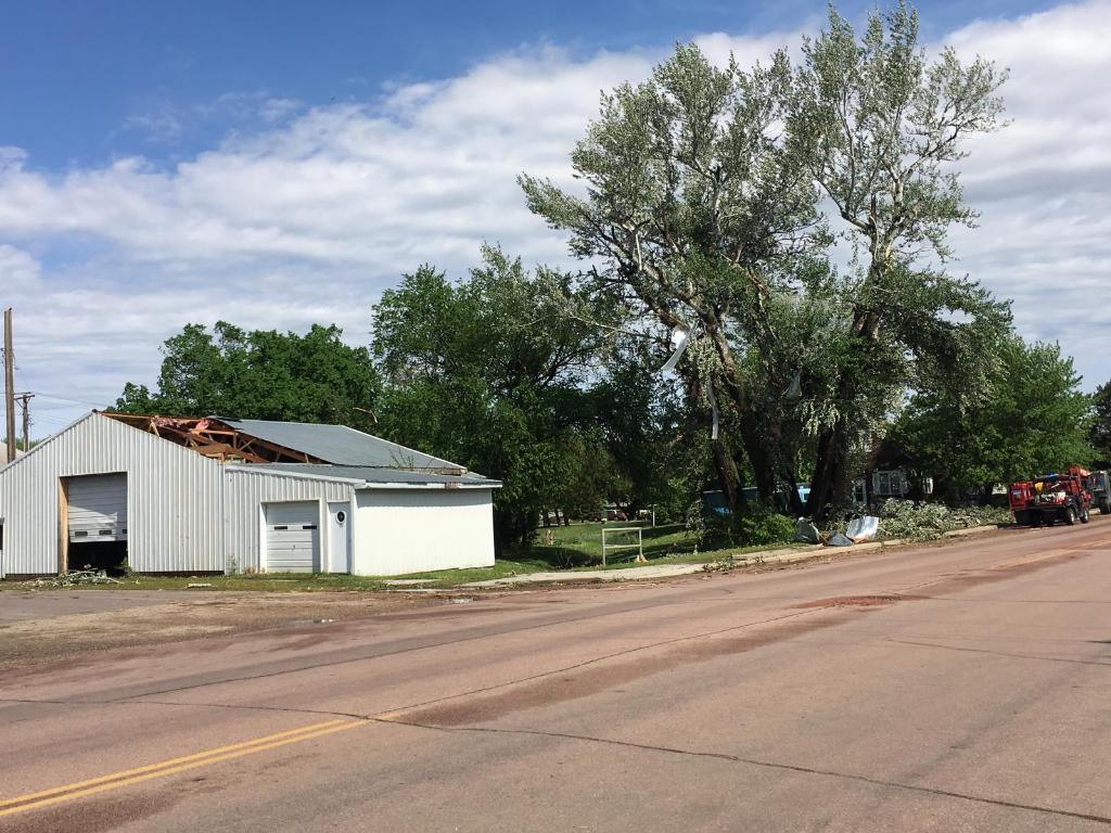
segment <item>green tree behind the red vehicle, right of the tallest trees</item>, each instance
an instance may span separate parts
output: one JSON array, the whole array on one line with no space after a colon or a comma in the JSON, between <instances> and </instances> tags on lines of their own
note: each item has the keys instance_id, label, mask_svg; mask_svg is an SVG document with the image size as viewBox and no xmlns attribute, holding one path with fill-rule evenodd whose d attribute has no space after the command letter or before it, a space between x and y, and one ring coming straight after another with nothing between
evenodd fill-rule
<instances>
[{"instance_id":1,"label":"green tree behind the red vehicle, right of the tallest trees","mask_svg":"<svg viewBox=\"0 0 1111 833\"><path fill-rule=\"evenodd\" d=\"M897 422L892 439L949 500L990 494L1011 483L1084 465L1091 398L1057 344L1005 339L985 395L923 393Z\"/></svg>"}]
</instances>

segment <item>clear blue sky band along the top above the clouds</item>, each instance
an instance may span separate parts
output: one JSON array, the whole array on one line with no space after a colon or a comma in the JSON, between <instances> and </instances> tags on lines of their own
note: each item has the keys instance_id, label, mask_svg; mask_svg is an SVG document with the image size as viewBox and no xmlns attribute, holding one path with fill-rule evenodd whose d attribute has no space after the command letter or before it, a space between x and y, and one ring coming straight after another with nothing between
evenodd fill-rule
<instances>
[{"instance_id":1,"label":"clear blue sky band along the top above the clouds","mask_svg":"<svg viewBox=\"0 0 1111 833\"><path fill-rule=\"evenodd\" d=\"M859 14L868 3L842 4ZM927 33L973 18L1044 8L1029 0L934 2ZM236 119L181 111L229 91L309 103L366 100L383 83L439 79L522 44L579 54L667 46L704 32L791 30L820 3L681 2L152 2L6 0L0 112L6 144L50 168L142 153L176 159L218 140ZM177 112L176 136L129 119ZM161 141L159 141L161 140Z\"/></svg>"}]
</instances>

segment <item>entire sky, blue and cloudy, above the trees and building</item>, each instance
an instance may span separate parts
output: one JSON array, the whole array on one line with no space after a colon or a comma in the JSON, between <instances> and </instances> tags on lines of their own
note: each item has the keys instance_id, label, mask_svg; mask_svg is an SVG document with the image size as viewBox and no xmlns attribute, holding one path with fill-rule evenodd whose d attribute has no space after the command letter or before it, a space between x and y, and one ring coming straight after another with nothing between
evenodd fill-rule
<instances>
[{"instance_id":1,"label":"entire sky, blue and cloudy, above the trees and building","mask_svg":"<svg viewBox=\"0 0 1111 833\"><path fill-rule=\"evenodd\" d=\"M869 4L840 4L859 22ZM1010 69L968 143L957 273L1014 301L1085 389L1111 379L1111 0L918 6L930 49ZM0 0L0 307L42 436L151 383L186 323L370 338L370 308L483 242L570 265L522 171L570 181L599 92L678 41L742 64L824 4L784 0Z\"/></svg>"}]
</instances>

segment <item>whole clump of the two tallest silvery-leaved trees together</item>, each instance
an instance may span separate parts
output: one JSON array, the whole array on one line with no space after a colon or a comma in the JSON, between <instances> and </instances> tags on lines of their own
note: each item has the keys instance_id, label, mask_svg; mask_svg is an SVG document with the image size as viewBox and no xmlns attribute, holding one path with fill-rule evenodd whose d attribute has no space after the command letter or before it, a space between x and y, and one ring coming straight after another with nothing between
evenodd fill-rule
<instances>
[{"instance_id":1,"label":"whole clump of the two tallest silvery-leaved trees together","mask_svg":"<svg viewBox=\"0 0 1111 833\"><path fill-rule=\"evenodd\" d=\"M982 388L1009 312L944 272L944 237L972 222L952 163L995 127L1001 80L948 50L929 62L905 6L859 39L831 11L794 69L782 53L720 69L679 47L603 97L571 157L581 190L521 177L530 209L592 262L584 288L649 332L690 333L680 375L720 418L734 508L744 469L768 500L812 462L822 515L847 496L854 441L908 387ZM828 208L850 242L841 275L823 262Z\"/></svg>"}]
</instances>

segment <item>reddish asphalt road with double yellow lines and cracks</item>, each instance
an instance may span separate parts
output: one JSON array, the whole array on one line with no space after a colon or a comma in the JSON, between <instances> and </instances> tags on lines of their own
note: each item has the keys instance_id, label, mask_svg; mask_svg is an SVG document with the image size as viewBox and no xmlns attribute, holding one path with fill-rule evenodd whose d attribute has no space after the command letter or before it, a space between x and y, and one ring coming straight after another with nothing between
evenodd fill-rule
<instances>
[{"instance_id":1,"label":"reddish asphalt road with double yellow lines and cracks","mask_svg":"<svg viewBox=\"0 0 1111 833\"><path fill-rule=\"evenodd\" d=\"M1097 518L9 670L0 830L1108 830L1109 691Z\"/></svg>"}]
</instances>

